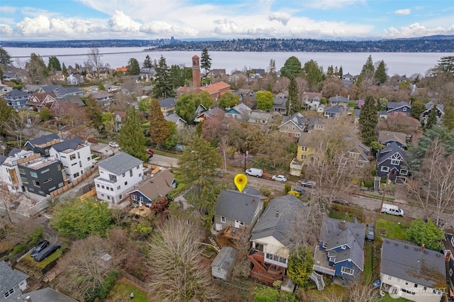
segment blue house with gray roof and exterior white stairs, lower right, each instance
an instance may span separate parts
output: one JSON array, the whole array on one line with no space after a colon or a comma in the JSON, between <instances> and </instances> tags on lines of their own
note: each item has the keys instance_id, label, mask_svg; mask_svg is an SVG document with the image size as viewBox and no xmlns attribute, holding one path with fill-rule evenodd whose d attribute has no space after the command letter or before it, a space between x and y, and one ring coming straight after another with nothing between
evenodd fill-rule
<instances>
[{"instance_id":1,"label":"blue house with gray roof and exterior white stairs, lower right","mask_svg":"<svg viewBox=\"0 0 454 302\"><path fill-rule=\"evenodd\" d=\"M314 271L342 279L356 279L364 270L366 226L324 217L319 247L314 253Z\"/></svg>"}]
</instances>

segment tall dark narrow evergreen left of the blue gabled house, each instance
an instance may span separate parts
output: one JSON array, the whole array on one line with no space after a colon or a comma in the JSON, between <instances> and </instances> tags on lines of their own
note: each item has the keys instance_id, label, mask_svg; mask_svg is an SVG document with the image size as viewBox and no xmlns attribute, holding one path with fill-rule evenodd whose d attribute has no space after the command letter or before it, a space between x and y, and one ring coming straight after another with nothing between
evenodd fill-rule
<instances>
[{"instance_id":1,"label":"tall dark narrow evergreen left of the blue gabled house","mask_svg":"<svg viewBox=\"0 0 454 302\"><path fill-rule=\"evenodd\" d=\"M372 96L367 96L364 105L361 107L359 123L362 142L370 146L372 142L377 140L375 128L377 128L378 123L377 107L375 107L375 100Z\"/></svg>"}]
</instances>

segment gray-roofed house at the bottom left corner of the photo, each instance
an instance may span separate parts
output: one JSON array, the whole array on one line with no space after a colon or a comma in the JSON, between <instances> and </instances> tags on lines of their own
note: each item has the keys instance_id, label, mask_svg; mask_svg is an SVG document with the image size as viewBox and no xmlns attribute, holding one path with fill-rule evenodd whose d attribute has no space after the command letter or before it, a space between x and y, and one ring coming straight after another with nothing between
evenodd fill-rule
<instances>
[{"instance_id":1,"label":"gray-roofed house at the bottom left corner of the photo","mask_svg":"<svg viewBox=\"0 0 454 302\"><path fill-rule=\"evenodd\" d=\"M1 301L18 301L23 291L29 287L25 274L17 269L12 269L5 261L0 262L0 299ZM14 300L12 300L14 299Z\"/></svg>"}]
</instances>

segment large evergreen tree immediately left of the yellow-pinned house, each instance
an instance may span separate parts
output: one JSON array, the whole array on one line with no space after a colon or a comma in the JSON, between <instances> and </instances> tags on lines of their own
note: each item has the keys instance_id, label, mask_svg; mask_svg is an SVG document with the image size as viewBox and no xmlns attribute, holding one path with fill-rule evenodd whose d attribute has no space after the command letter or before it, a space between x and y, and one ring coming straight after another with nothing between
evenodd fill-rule
<instances>
[{"instance_id":1,"label":"large evergreen tree immediately left of the yellow-pinned house","mask_svg":"<svg viewBox=\"0 0 454 302\"><path fill-rule=\"evenodd\" d=\"M184 197L203 215L206 228L210 228L219 192L214 175L221 167L221 155L204 138L196 136L184 149L178 165L177 179L187 186Z\"/></svg>"}]
</instances>

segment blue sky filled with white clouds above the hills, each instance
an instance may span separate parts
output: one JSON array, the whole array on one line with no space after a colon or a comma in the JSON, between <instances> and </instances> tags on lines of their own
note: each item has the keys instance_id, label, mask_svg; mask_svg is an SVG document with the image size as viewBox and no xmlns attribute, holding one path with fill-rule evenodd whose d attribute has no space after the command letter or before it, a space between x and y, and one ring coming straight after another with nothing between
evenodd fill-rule
<instances>
[{"instance_id":1,"label":"blue sky filled with white clouds above the hills","mask_svg":"<svg viewBox=\"0 0 454 302\"><path fill-rule=\"evenodd\" d=\"M453 0L1 0L0 40L454 35Z\"/></svg>"}]
</instances>

